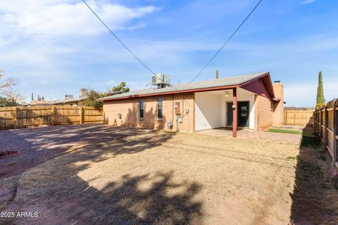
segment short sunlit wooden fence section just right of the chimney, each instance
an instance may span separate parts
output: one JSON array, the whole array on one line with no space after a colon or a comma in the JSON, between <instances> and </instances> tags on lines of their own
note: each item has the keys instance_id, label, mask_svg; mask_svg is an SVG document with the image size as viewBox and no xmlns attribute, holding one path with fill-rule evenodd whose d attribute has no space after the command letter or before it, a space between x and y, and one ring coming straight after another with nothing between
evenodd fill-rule
<instances>
[{"instance_id":1,"label":"short sunlit wooden fence section just right of the chimney","mask_svg":"<svg viewBox=\"0 0 338 225\"><path fill-rule=\"evenodd\" d=\"M312 127L313 110L284 110L283 124L296 127Z\"/></svg>"}]
</instances>

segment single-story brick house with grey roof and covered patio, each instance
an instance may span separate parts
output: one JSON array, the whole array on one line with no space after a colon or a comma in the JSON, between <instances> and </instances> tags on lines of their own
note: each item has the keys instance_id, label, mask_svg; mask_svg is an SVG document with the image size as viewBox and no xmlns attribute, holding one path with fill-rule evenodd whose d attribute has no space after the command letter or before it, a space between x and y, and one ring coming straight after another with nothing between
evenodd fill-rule
<instances>
[{"instance_id":1,"label":"single-story brick house with grey roof and covered patio","mask_svg":"<svg viewBox=\"0 0 338 225\"><path fill-rule=\"evenodd\" d=\"M229 127L260 130L281 126L283 86L269 72L190 84L175 84L99 98L104 118L114 126L165 131L201 131Z\"/></svg>"}]
</instances>

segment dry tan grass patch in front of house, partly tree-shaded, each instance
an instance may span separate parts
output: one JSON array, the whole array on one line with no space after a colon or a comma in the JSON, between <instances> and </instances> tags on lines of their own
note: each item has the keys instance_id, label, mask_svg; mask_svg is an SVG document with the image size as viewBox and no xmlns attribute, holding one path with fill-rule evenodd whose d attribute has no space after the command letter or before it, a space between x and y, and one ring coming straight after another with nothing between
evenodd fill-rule
<instances>
[{"instance_id":1,"label":"dry tan grass patch in front of house, partly tree-shaded","mask_svg":"<svg viewBox=\"0 0 338 225\"><path fill-rule=\"evenodd\" d=\"M78 224L288 224L295 144L155 132L89 146L23 174L12 210Z\"/></svg>"}]
</instances>

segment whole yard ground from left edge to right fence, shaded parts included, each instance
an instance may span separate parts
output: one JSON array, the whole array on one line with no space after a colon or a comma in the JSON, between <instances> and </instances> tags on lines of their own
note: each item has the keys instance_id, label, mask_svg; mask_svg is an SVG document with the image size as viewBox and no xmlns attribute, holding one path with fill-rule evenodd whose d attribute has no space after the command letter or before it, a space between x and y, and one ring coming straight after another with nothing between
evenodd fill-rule
<instances>
[{"instance_id":1,"label":"whole yard ground from left edge to right fence, shaded parts included","mask_svg":"<svg viewBox=\"0 0 338 225\"><path fill-rule=\"evenodd\" d=\"M0 224L338 223L330 160L313 139L303 139L300 147L204 134L90 129L96 132L86 132L83 148L74 138L82 134L69 135L70 129L46 128L37 136L34 129L15 131L33 151L48 144L49 151L62 155L3 176L0 212L15 212L15 218L0 218ZM1 132L1 141L11 136ZM123 135L114 139L111 132ZM50 141L59 136L72 151ZM15 163L18 157L6 158ZM17 212L38 216L16 217Z\"/></svg>"}]
</instances>

